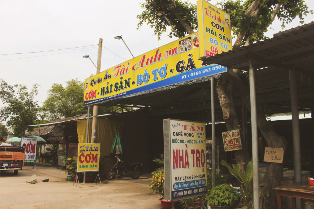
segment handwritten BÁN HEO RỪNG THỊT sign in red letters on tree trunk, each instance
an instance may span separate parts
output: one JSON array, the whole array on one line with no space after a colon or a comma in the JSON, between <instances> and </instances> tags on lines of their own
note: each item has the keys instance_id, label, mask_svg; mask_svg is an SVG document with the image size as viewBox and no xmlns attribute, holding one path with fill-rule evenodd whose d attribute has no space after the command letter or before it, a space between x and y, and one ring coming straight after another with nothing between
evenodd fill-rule
<instances>
[{"instance_id":1,"label":"handwritten B\u00c1N HEO R\u1eeaNG TH\u1ecaT sign in red letters on tree trunk","mask_svg":"<svg viewBox=\"0 0 314 209\"><path fill-rule=\"evenodd\" d=\"M222 133L225 152L242 149L240 130L232 130Z\"/></svg>"}]
</instances>

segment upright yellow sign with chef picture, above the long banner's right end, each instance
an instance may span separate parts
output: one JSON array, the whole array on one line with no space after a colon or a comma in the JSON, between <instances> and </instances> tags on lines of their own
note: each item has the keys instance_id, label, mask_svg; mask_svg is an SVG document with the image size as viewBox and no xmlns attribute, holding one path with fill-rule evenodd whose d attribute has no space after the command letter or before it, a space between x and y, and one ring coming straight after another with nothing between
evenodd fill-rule
<instances>
[{"instance_id":1,"label":"upright yellow sign with chef picture, above the long banner's right end","mask_svg":"<svg viewBox=\"0 0 314 209\"><path fill-rule=\"evenodd\" d=\"M199 57L232 50L230 15L204 0L197 1Z\"/></svg>"}]
</instances>

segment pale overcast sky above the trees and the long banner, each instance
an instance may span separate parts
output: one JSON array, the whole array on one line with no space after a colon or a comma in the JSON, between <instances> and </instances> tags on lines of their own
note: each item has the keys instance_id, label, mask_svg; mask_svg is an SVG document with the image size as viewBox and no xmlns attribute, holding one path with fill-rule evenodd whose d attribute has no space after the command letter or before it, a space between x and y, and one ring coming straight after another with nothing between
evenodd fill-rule
<instances>
[{"instance_id":1,"label":"pale overcast sky above the trees and the long banner","mask_svg":"<svg viewBox=\"0 0 314 209\"><path fill-rule=\"evenodd\" d=\"M78 78L84 81L96 68L89 59L97 63L99 38L103 46L125 60L132 58L122 40L113 39L123 35L123 39L134 56L141 55L175 40L165 33L161 40L152 36L154 29L143 25L138 31L136 18L142 12L137 0L0 0L0 78L10 85L24 84L29 89L38 83L39 104L46 99L46 92L53 83L65 85L65 81ZM196 3L196 0L189 1ZM211 1L215 4L217 1ZM310 10L313 0L305 0ZM314 15L305 17L306 23L314 21ZM272 37L281 31L278 20L267 33ZM299 20L288 24L286 29L300 25ZM170 29L169 29L170 30ZM19 55L11 53L58 50L89 46L71 50ZM104 71L123 61L121 57L103 48L101 70ZM52 55L55 54L55 55ZM47 55L47 56L45 56ZM37 56L37 57L34 57ZM21 59L23 58L23 59ZM0 107L3 104L0 103Z\"/></svg>"}]
</instances>

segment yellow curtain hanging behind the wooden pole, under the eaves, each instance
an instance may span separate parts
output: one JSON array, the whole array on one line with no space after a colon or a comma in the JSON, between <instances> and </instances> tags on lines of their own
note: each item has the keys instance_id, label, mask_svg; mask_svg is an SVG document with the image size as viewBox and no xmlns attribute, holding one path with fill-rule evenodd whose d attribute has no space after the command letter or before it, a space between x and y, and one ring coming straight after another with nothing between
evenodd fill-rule
<instances>
[{"instance_id":1,"label":"yellow curtain hanging behind the wooden pole, under the eaves","mask_svg":"<svg viewBox=\"0 0 314 209\"><path fill-rule=\"evenodd\" d=\"M91 142L92 135L92 121L89 120L88 128L88 143ZM78 129L78 142L86 143L86 124L87 120L79 120ZM103 156L110 156L110 151L113 143L113 139L119 130L120 137L123 131L124 122L117 120L98 119L97 131L96 131L96 143L100 144L100 154Z\"/></svg>"}]
</instances>

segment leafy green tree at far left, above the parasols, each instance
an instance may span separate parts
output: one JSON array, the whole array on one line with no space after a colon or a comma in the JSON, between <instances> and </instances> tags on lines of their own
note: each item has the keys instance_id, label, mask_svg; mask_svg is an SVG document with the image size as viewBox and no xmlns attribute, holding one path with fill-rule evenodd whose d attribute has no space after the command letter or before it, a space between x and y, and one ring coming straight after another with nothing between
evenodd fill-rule
<instances>
[{"instance_id":1,"label":"leafy green tree at far left, above the parasols","mask_svg":"<svg viewBox=\"0 0 314 209\"><path fill-rule=\"evenodd\" d=\"M38 101L34 100L37 95L38 84L34 84L30 92L24 85L8 85L0 79L0 99L5 107L0 109L0 120L7 121L7 126L12 128L17 136L24 136L27 128L37 120L39 110Z\"/></svg>"}]
</instances>

